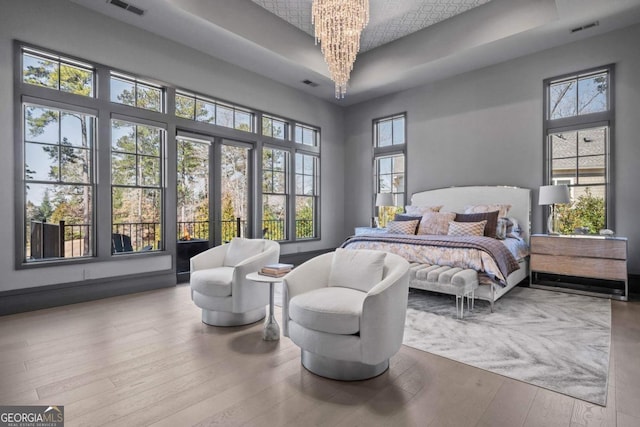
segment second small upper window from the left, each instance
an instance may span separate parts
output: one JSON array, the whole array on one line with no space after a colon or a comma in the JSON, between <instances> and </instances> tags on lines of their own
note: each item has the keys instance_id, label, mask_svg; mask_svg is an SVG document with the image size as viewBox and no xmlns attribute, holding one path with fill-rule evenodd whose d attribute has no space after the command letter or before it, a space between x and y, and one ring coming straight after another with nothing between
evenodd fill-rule
<instances>
[{"instance_id":1,"label":"second small upper window from the left","mask_svg":"<svg viewBox=\"0 0 640 427\"><path fill-rule=\"evenodd\" d=\"M163 89L133 77L111 73L111 102L162 112Z\"/></svg>"}]
</instances>

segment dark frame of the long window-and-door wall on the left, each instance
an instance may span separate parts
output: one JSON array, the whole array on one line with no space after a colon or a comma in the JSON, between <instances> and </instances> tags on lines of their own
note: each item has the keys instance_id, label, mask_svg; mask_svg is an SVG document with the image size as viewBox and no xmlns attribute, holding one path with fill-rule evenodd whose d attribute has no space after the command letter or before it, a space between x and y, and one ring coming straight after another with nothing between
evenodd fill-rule
<instances>
[{"instance_id":1,"label":"dark frame of the long window-and-door wall on the left","mask_svg":"<svg viewBox=\"0 0 640 427\"><path fill-rule=\"evenodd\" d=\"M44 59L62 58L68 61L71 65L80 64L83 67L86 66L93 70L91 84L93 90L93 97L72 92L64 92L52 87L46 87L44 85L32 84L23 81L23 52L28 55L32 55L34 52L44 55ZM125 258L142 258L153 257L160 255L176 256L177 246L176 242L171 238L176 234L177 227L177 215L174 211L174 205L176 204L176 192L177 188L173 188L176 183L176 177L173 176L176 172L176 142L175 138L179 133L187 132L199 136L211 137L214 141L214 151L219 148L221 141L229 140L235 141L241 144L247 144L250 146L250 170L249 170L249 209L251 215L250 225L247 227L248 237L260 237L260 225L262 219L262 187L259 177L262 176L261 169L261 156L263 146L272 146L281 150L286 150L289 154L289 174L287 177L287 185L290 189L287 201L287 228L288 228L288 240L283 240L281 243L287 244L298 241L319 240L321 229L321 128L313 124L304 123L299 120L287 118L286 116L274 112L263 112L261 110L238 105L234 102L228 102L218 99L215 96L207 93L200 93L194 91L191 88L180 88L172 86L151 77L138 75L135 72L131 72L125 69L118 69L106 64L101 64L95 61L76 58L72 55L68 55L64 52L58 52L54 49L42 48L29 43L14 40L13 41L13 85L14 85L14 194L15 194L15 224L20 229L25 229L25 219L23 211L25 209L25 194L24 188L24 164L23 156L25 152L24 147L24 130L22 129L22 122L24 117L22 115L22 103L23 99L31 98L37 100L34 102L38 105L48 105L53 108L61 108L63 110L71 111L87 111L88 114L96 117L96 129L95 129L95 147L93 153L93 174L94 174L94 196L93 196L93 245L94 250L91 257L86 258L67 258L67 259L55 259L42 262L25 262L24 254L26 253L24 238L20 233L15 233L14 236L14 265L15 268L30 269L44 266L58 266L58 265L72 265L80 263L92 263L92 262L105 262L113 260L113 254L111 253L111 233L112 233L112 185L111 185L111 119L122 119L136 124L148 124L150 126L159 127L164 129L164 141L163 149L164 154L161 159L161 167L163 168L162 177L162 218L161 218L161 234L163 248L160 251L148 251L148 252L128 252L119 254L118 259ZM38 66L38 62L33 62L34 66ZM49 64L45 63L48 66ZM51 67L49 67L51 68ZM49 69L47 68L47 69ZM53 70L53 68L51 68ZM115 75L117 78L129 77L133 81L139 81L145 85L161 88L162 90L162 110L154 111L144 108L139 108L133 105L122 104L119 102L111 101L111 76ZM38 80L33 80L38 82ZM43 81L44 84L48 84L48 81ZM87 85L88 85L87 80ZM51 86L53 86L51 82ZM72 87L72 86L65 86ZM176 95L181 94L183 96L213 101L215 105L221 105L226 108L232 108L234 111L234 128L228 128L219 126L207 122L199 122L196 120L190 120L175 114L176 107ZM208 102L208 101L206 101ZM235 129L238 127L238 123L246 123L247 117L238 117L238 112L246 113L251 116L252 132L246 130ZM195 114L195 104L194 104ZM272 117L277 120L281 120L285 125L286 138L272 138L262 135L262 116ZM305 128L315 130L315 145L306 145L295 141L295 129L296 126L302 126ZM245 126L246 128L246 126ZM295 233L295 154L297 152L314 155L317 160L317 194L316 194L316 211L315 211L315 237L296 239ZM215 153L214 153L215 155ZM216 174L220 170L215 165L212 166L211 174ZM217 197L220 189L212 178L213 184L211 187L211 196ZM212 199L213 200L213 199ZM213 206L213 201L211 202ZM217 209L217 208L216 208ZM216 209L210 212L210 215L217 215ZM215 219L211 220L215 224ZM214 240L215 236L214 229ZM84 280L80 278L79 280Z\"/></svg>"}]
</instances>

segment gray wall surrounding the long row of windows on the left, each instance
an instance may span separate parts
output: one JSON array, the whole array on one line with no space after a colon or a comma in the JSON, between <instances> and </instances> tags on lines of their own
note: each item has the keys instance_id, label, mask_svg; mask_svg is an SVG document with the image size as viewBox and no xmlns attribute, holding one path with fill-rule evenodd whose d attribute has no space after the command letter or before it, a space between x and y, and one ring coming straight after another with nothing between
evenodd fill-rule
<instances>
[{"instance_id":1,"label":"gray wall surrounding the long row of windows on the left","mask_svg":"<svg viewBox=\"0 0 640 427\"><path fill-rule=\"evenodd\" d=\"M0 0L0 291L153 273L169 255L16 270L14 265L14 120L12 40L96 61L219 99L319 126L322 131L322 240L282 245L282 253L335 247L344 238L344 124L340 107L196 50L63 0Z\"/></svg>"}]
</instances>

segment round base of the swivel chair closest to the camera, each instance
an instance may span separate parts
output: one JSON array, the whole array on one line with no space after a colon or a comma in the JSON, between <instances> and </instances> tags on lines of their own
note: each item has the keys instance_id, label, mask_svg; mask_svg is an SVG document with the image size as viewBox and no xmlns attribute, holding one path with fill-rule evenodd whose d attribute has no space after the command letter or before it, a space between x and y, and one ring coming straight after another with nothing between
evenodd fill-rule
<instances>
[{"instance_id":1,"label":"round base of the swivel chair closest to the camera","mask_svg":"<svg viewBox=\"0 0 640 427\"><path fill-rule=\"evenodd\" d=\"M389 359L377 365L331 359L301 350L302 366L321 377L339 381L359 381L377 377L389 368Z\"/></svg>"}]
</instances>

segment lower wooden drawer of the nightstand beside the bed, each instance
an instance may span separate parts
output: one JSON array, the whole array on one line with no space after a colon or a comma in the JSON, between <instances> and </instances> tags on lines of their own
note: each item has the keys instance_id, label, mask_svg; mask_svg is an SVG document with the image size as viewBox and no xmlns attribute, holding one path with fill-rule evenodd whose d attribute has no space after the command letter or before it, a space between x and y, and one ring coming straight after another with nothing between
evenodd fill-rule
<instances>
[{"instance_id":1,"label":"lower wooden drawer of the nightstand beside the bed","mask_svg":"<svg viewBox=\"0 0 640 427\"><path fill-rule=\"evenodd\" d=\"M627 263L622 260L536 254L531 256L530 263L532 271L566 276L627 280Z\"/></svg>"}]
</instances>

